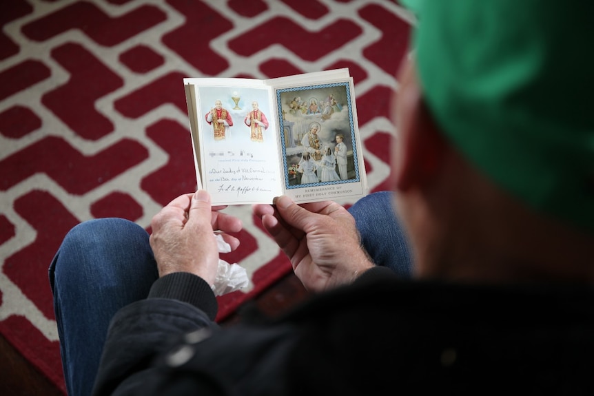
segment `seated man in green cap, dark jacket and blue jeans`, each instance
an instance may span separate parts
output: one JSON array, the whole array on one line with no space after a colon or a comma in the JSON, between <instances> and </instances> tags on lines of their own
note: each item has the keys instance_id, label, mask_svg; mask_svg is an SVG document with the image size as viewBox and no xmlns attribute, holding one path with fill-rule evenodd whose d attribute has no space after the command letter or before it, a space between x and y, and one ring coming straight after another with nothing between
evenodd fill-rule
<instances>
[{"instance_id":1,"label":"seated man in green cap, dark jacket and blue jeans","mask_svg":"<svg viewBox=\"0 0 594 396\"><path fill-rule=\"evenodd\" d=\"M420 4L394 108L392 183L409 238L390 231L398 222L378 194L350 212L286 196L256 205L314 295L284 317L221 330L209 320L212 232L235 232L238 220L211 211L204 191L174 200L152 222L161 278L114 315L97 395L593 392L594 56L576 51L594 33L591 3ZM89 309L97 299L73 291L101 283L105 306L114 293L103 283L150 284L88 271L103 271L90 264L102 255L124 256L115 261L134 268L117 271L132 274L150 262L146 236L122 249L132 230L113 229L81 225L52 264L67 383L82 353L69 343L103 325ZM416 279L401 280L380 265L408 242Z\"/></svg>"}]
</instances>

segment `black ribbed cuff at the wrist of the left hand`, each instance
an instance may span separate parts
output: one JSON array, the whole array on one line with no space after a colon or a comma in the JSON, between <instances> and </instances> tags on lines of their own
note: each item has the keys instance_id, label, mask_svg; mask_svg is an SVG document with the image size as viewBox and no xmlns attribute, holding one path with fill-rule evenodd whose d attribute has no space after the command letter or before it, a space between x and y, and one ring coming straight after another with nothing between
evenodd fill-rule
<instances>
[{"instance_id":1,"label":"black ribbed cuff at the wrist of the left hand","mask_svg":"<svg viewBox=\"0 0 594 396\"><path fill-rule=\"evenodd\" d=\"M204 311L210 320L218 312L218 304L209 284L189 272L174 272L158 278L151 286L148 298L170 298L187 302Z\"/></svg>"}]
</instances>

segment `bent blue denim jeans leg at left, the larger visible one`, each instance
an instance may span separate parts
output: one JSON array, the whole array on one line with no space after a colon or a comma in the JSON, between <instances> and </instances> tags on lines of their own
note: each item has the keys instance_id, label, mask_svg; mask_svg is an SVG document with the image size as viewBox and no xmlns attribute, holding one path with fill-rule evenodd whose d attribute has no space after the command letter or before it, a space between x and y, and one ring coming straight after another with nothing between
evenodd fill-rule
<instances>
[{"instance_id":1,"label":"bent blue denim jeans leg at left, the larger visible one","mask_svg":"<svg viewBox=\"0 0 594 396\"><path fill-rule=\"evenodd\" d=\"M146 298L158 278L147 232L119 218L89 220L65 236L50 286L68 395L90 395L110 320Z\"/></svg>"}]
</instances>

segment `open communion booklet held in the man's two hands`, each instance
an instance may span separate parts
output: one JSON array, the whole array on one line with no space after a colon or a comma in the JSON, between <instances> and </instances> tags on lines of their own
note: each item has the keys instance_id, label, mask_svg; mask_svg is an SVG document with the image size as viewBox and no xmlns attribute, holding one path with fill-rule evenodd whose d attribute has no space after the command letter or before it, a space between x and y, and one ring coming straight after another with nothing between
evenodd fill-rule
<instances>
[{"instance_id":1,"label":"open communion booklet held in the man's two hands","mask_svg":"<svg viewBox=\"0 0 594 396\"><path fill-rule=\"evenodd\" d=\"M348 69L183 81L198 188L213 205L367 194Z\"/></svg>"}]
</instances>

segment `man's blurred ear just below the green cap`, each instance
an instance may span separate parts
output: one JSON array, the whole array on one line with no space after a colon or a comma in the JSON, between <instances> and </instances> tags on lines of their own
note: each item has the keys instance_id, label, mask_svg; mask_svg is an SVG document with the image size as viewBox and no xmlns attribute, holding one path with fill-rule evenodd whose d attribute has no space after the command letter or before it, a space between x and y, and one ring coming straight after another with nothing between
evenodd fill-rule
<instances>
[{"instance_id":1,"label":"man's blurred ear just below the green cap","mask_svg":"<svg viewBox=\"0 0 594 396\"><path fill-rule=\"evenodd\" d=\"M400 88L393 95L397 137L392 147L392 177L397 191L421 187L439 171L447 146L424 103L414 68L407 61L399 73Z\"/></svg>"}]
</instances>

